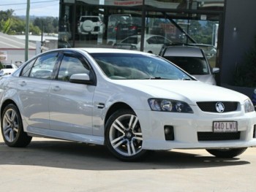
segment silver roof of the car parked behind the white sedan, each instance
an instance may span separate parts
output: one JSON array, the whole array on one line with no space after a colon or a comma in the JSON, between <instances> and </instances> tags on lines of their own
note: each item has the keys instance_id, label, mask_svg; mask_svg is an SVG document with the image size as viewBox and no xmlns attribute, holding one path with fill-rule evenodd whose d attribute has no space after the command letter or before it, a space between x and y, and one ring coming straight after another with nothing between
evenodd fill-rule
<instances>
[{"instance_id":1,"label":"silver roof of the car parked behind the white sedan","mask_svg":"<svg viewBox=\"0 0 256 192\"><path fill-rule=\"evenodd\" d=\"M165 48L165 52L162 56L203 58L203 50L200 47L170 46Z\"/></svg>"}]
</instances>

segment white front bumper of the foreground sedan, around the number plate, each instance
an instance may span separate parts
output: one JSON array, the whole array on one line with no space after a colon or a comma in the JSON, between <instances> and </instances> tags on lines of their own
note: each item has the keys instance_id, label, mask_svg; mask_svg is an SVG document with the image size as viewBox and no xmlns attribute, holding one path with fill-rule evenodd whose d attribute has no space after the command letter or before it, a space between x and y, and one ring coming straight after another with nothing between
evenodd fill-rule
<instances>
[{"instance_id":1,"label":"white front bumper of the foreground sedan, around the number plate","mask_svg":"<svg viewBox=\"0 0 256 192\"><path fill-rule=\"evenodd\" d=\"M206 149L256 146L256 112L194 113L136 111L143 132L143 149ZM238 139L200 140L198 133L214 134L213 121L237 121ZM165 126L173 126L174 139L165 140Z\"/></svg>"}]
</instances>

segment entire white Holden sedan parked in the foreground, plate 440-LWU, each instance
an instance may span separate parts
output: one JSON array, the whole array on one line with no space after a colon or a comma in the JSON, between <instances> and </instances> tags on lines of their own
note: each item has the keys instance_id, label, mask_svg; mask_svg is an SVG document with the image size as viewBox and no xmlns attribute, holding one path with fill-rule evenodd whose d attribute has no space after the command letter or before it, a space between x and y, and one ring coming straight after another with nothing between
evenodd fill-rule
<instances>
[{"instance_id":1,"label":"entire white Holden sedan parked in the foreground, plate 440-LWU","mask_svg":"<svg viewBox=\"0 0 256 192\"><path fill-rule=\"evenodd\" d=\"M50 50L0 79L6 145L32 137L106 145L121 161L148 150L206 149L233 158L256 146L256 113L241 93L195 80L151 53Z\"/></svg>"}]
</instances>

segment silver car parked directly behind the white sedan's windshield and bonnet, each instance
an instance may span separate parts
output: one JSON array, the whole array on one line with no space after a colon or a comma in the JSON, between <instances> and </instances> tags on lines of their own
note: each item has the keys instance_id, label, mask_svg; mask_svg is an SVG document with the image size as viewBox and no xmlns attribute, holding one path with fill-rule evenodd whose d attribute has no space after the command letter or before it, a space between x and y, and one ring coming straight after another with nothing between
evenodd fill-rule
<instances>
[{"instance_id":1,"label":"silver car parked directly behind the white sedan's windshield and bonnet","mask_svg":"<svg viewBox=\"0 0 256 192\"><path fill-rule=\"evenodd\" d=\"M161 50L159 55L192 74L197 80L216 85L214 74L219 72L219 68L211 68L204 51L200 47L167 46Z\"/></svg>"}]
</instances>

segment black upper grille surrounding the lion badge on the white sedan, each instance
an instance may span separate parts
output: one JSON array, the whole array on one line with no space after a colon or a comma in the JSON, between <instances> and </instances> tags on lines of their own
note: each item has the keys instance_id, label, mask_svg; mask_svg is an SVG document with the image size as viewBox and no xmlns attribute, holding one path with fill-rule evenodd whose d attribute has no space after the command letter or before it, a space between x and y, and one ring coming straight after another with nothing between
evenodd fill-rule
<instances>
[{"instance_id":1,"label":"black upper grille surrounding the lion badge on the white sedan","mask_svg":"<svg viewBox=\"0 0 256 192\"><path fill-rule=\"evenodd\" d=\"M223 112L233 112L237 110L238 102L233 101L206 101L206 102L197 102L198 107L203 112L217 112L216 104L222 102L225 107Z\"/></svg>"}]
</instances>

